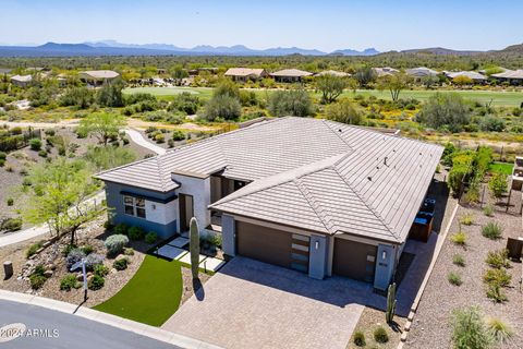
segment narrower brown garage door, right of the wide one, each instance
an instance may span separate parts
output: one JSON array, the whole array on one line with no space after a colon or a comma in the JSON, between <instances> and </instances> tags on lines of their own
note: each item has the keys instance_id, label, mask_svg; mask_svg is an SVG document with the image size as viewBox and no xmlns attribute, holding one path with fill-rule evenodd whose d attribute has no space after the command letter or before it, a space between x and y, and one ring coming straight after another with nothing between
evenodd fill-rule
<instances>
[{"instance_id":1,"label":"narrower brown garage door, right of the wide one","mask_svg":"<svg viewBox=\"0 0 523 349\"><path fill-rule=\"evenodd\" d=\"M372 282L374 280L376 253L376 246L337 238L335 240L332 273Z\"/></svg>"}]
</instances>

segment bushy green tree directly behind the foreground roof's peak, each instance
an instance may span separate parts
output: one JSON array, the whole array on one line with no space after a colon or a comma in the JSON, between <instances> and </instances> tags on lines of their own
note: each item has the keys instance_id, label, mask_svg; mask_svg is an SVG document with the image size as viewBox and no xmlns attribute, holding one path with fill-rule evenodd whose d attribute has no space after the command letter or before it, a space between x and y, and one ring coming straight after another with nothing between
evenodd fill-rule
<instances>
[{"instance_id":1,"label":"bushy green tree directly behind the foreground roof's peak","mask_svg":"<svg viewBox=\"0 0 523 349\"><path fill-rule=\"evenodd\" d=\"M308 117L314 113L313 100L303 88L272 93L268 109L275 117Z\"/></svg>"}]
</instances>

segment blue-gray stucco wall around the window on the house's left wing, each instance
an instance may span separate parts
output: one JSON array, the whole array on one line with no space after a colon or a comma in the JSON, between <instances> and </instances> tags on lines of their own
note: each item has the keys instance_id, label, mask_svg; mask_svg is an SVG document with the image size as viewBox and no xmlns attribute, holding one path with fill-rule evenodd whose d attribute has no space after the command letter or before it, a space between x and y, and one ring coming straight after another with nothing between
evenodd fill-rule
<instances>
[{"instance_id":1,"label":"blue-gray stucco wall around the window on the house's left wing","mask_svg":"<svg viewBox=\"0 0 523 349\"><path fill-rule=\"evenodd\" d=\"M112 224L118 225L123 222L129 226L141 227L146 231L155 231L160 239L167 239L178 232L177 220L173 220L168 225L162 225L162 224L149 221L144 218L125 215L124 207L123 207L122 192L136 194L136 196L141 196L141 197L156 198L158 201L168 201L174 194L174 192L159 193L159 192L148 191L141 188L106 182L107 207L109 213L109 220Z\"/></svg>"}]
</instances>

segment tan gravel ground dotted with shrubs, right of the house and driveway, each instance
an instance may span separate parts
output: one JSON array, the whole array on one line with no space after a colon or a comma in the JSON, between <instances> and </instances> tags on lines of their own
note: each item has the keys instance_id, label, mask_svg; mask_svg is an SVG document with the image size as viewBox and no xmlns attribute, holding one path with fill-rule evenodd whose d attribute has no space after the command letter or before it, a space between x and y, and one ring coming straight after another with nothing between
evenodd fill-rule
<instances>
[{"instance_id":1,"label":"tan gravel ground dotted with shrubs, right of the house and driveway","mask_svg":"<svg viewBox=\"0 0 523 349\"><path fill-rule=\"evenodd\" d=\"M487 198L491 201L490 198ZM512 276L509 288L504 289L508 301L494 303L486 297L483 275L488 266L485 263L487 253L492 250L506 248L508 237L522 236L522 218L515 214L504 214L496 210L494 217L487 217L479 207L460 206L452 221L449 237L460 230L460 219L472 215L473 225L461 225L466 233L466 245L454 244L448 238L445 241L437 264L433 270L425 292L417 309L411 332L408 336L406 348L451 348L451 327L449 321L454 309L477 305L488 316L500 318L510 324L514 336L502 348L521 348L523 342L523 293L519 280L522 275L522 264L511 262L508 269ZM489 240L482 236L482 227L490 221L496 221L503 228L500 240ZM453 264L453 257L461 254L465 266ZM448 281L449 273L454 272L461 276L463 284L453 286Z\"/></svg>"}]
</instances>

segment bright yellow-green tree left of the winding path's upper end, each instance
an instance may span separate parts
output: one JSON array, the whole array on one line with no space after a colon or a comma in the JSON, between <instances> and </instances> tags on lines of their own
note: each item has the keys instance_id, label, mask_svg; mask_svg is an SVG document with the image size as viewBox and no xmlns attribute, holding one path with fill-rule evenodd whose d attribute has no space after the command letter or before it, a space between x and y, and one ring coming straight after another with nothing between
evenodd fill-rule
<instances>
[{"instance_id":1,"label":"bright yellow-green tree left of the winding path's upper end","mask_svg":"<svg viewBox=\"0 0 523 349\"><path fill-rule=\"evenodd\" d=\"M125 119L120 115L95 112L80 121L76 132L83 136L94 135L101 144L107 145L124 125Z\"/></svg>"}]
</instances>

